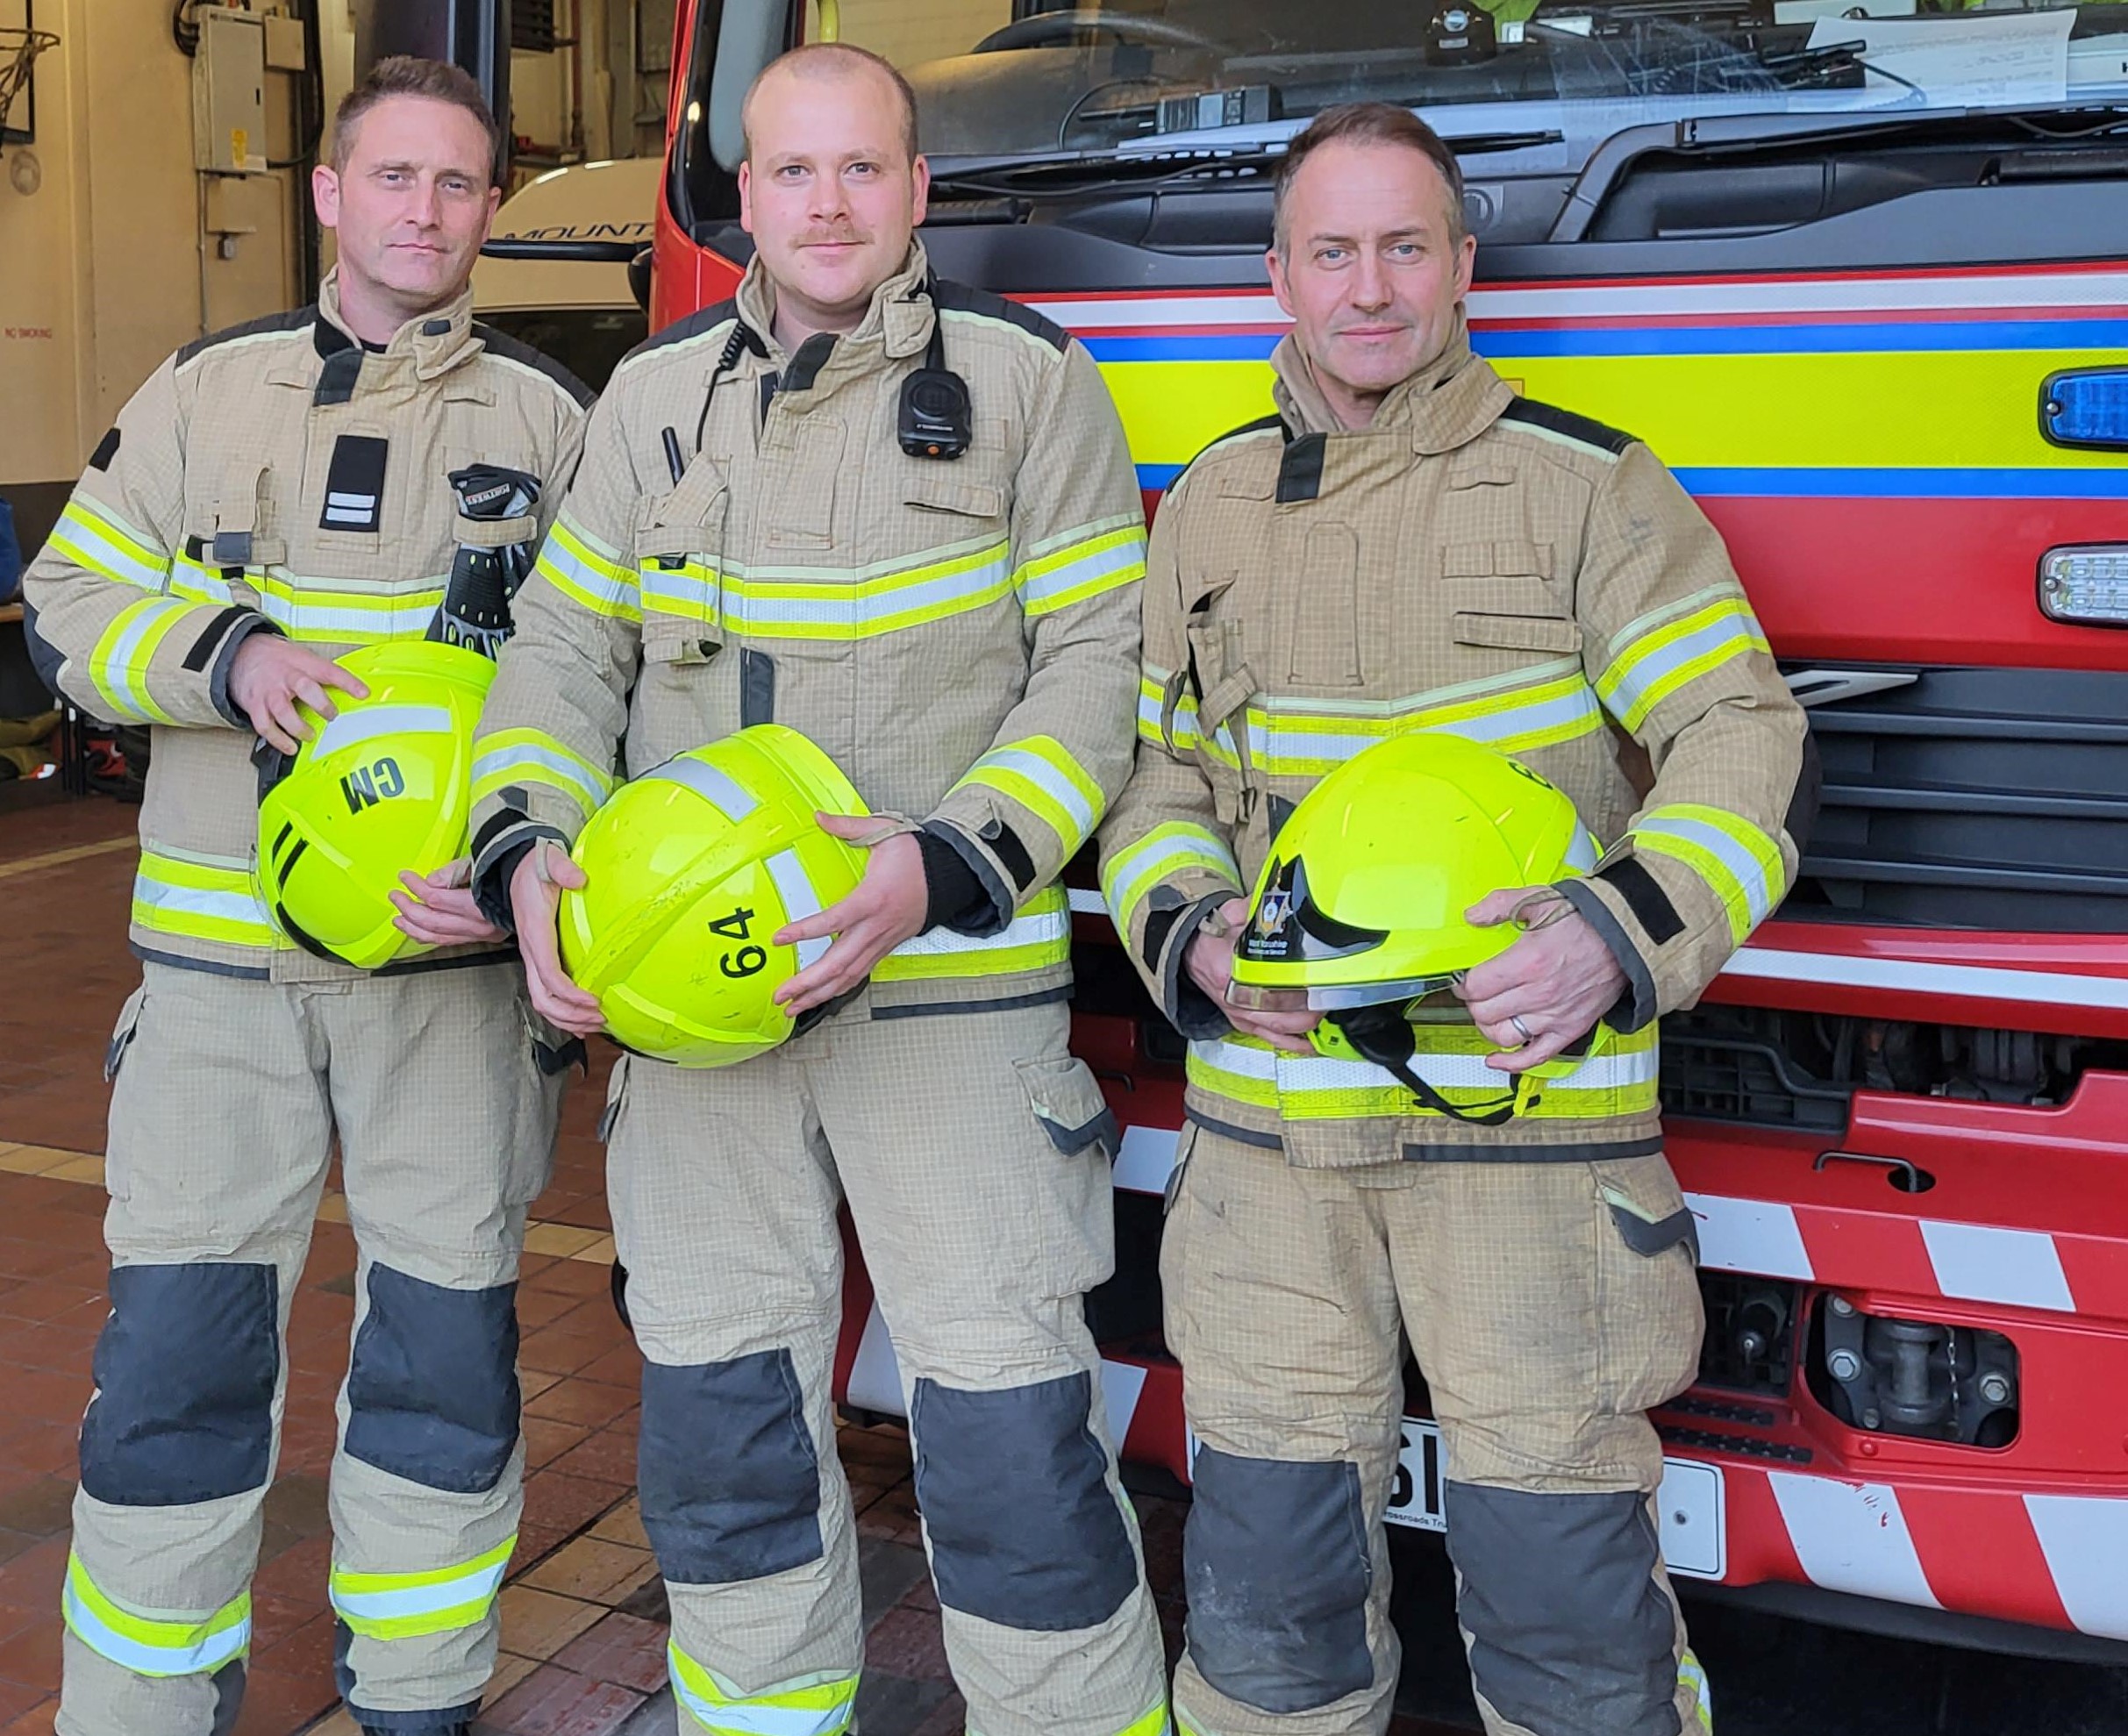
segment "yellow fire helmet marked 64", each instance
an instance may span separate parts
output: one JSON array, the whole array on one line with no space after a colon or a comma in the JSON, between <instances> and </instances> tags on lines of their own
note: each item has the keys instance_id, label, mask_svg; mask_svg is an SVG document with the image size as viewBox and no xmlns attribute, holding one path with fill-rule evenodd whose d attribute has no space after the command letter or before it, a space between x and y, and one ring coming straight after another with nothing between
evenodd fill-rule
<instances>
[{"instance_id":1,"label":"yellow fire helmet marked 64","mask_svg":"<svg viewBox=\"0 0 2128 1736\"><path fill-rule=\"evenodd\" d=\"M785 1042L775 991L828 940L779 947L783 923L847 898L866 851L817 813L864 800L811 740L755 723L621 785L592 815L562 891L562 966L598 998L617 1042L689 1068L732 1066Z\"/></svg>"}]
</instances>

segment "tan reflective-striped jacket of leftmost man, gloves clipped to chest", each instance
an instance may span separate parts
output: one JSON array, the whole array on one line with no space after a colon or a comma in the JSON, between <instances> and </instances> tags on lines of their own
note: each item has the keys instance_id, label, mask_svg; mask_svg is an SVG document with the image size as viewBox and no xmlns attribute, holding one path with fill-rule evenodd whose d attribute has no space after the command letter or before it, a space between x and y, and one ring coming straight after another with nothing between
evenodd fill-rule
<instances>
[{"instance_id":1,"label":"tan reflective-striped jacket of leftmost man, gloves clipped to chest","mask_svg":"<svg viewBox=\"0 0 2128 1736\"><path fill-rule=\"evenodd\" d=\"M23 589L62 691L153 725L136 953L283 981L351 974L298 951L253 887L236 647L281 632L334 657L421 638L460 542L541 536L587 404L568 370L477 326L470 291L364 349L332 277L317 306L189 343L132 396ZM449 472L470 464L541 479L538 508L460 517Z\"/></svg>"}]
</instances>

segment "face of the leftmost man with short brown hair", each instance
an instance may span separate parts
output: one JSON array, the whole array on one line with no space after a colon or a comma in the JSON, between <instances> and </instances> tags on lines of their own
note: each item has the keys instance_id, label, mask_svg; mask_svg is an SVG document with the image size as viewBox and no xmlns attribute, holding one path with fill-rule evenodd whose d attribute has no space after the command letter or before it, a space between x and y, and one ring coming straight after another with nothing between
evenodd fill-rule
<instances>
[{"instance_id":1,"label":"face of the leftmost man with short brown hair","mask_svg":"<svg viewBox=\"0 0 2128 1736\"><path fill-rule=\"evenodd\" d=\"M387 96L370 108L347 162L311 172L343 281L360 279L406 317L458 296L502 200L487 149L485 128L455 102Z\"/></svg>"}]
</instances>

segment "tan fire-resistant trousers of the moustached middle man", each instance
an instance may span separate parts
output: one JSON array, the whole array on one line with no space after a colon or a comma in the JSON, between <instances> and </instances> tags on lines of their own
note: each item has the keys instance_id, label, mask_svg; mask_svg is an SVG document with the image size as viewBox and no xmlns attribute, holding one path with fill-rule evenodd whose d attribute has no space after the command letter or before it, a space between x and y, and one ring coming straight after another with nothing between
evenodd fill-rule
<instances>
[{"instance_id":1,"label":"tan fire-resistant trousers of the moustached middle man","mask_svg":"<svg viewBox=\"0 0 2128 1736\"><path fill-rule=\"evenodd\" d=\"M630 1057L609 1187L681 1727L834 1736L864 1636L832 1362L847 1198L981 1736L1160 1736L1160 1630L1081 1298L1115 1125L1062 1004L845 1008L715 1072Z\"/></svg>"}]
</instances>

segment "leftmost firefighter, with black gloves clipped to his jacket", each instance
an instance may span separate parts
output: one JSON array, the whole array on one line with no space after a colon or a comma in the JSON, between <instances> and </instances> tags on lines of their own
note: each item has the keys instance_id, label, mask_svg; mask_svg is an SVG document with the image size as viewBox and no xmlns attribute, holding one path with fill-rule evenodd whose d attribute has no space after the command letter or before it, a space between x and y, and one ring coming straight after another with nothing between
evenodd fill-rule
<instances>
[{"instance_id":1,"label":"leftmost firefighter, with black gloves clipped to his jacket","mask_svg":"<svg viewBox=\"0 0 2128 1736\"><path fill-rule=\"evenodd\" d=\"M364 1727L460 1732L521 1506L515 1276L560 1036L466 864L394 896L432 951L366 974L253 885L262 751L389 638L492 649L589 394L472 323L498 130L455 68L381 62L313 172L315 306L185 345L119 413L28 574L60 691L147 723L111 1040L111 1319L81 1423L66 1736L228 1732L287 1393L289 1300L338 1138L355 1328L332 1459L338 1681ZM353 721L353 717L349 717Z\"/></svg>"}]
</instances>

